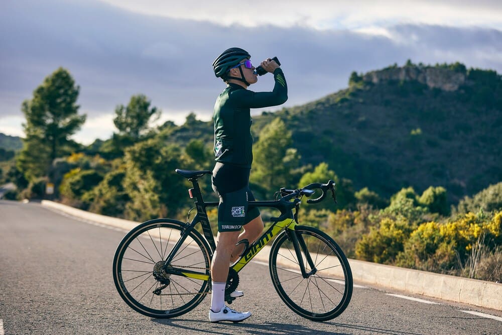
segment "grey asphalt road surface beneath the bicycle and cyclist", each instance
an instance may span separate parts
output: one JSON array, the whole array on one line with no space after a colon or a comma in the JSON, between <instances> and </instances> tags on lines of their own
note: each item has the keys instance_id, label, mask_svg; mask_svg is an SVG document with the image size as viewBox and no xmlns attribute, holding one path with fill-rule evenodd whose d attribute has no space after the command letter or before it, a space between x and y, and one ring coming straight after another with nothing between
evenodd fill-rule
<instances>
[{"instance_id":1,"label":"grey asphalt road surface beneath the bicycle and cyclist","mask_svg":"<svg viewBox=\"0 0 502 335\"><path fill-rule=\"evenodd\" d=\"M126 305L113 284L112 259L125 234L38 203L0 200L0 335L502 334L502 311L370 287L355 287L339 317L313 322L286 307L260 262L240 273L245 295L231 305L253 312L246 321L209 322L209 298L182 317L151 319Z\"/></svg>"}]
</instances>

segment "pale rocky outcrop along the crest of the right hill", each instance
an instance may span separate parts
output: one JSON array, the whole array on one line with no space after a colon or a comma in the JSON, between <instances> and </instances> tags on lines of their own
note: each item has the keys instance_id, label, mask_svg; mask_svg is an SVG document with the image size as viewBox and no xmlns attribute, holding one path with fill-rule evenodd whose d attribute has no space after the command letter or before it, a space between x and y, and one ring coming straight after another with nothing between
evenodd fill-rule
<instances>
[{"instance_id":1,"label":"pale rocky outcrop along the crest of the right hill","mask_svg":"<svg viewBox=\"0 0 502 335\"><path fill-rule=\"evenodd\" d=\"M378 84L380 82L398 80L416 80L430 88L455 91L465 83L466 74L439 67L392 67L380 71L372 71L363 75L363 80Z\"/></svg>"}]
</instances>

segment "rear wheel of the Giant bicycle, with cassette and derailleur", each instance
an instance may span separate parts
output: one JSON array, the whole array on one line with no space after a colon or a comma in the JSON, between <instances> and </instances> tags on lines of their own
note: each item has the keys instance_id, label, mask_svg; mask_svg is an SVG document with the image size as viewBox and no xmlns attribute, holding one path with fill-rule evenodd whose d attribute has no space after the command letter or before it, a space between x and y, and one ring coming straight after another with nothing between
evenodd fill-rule
<instances>
[{"instance_id":1,"label":"rear wheel of the Giant bicycle, with cassette and derailleur","mask_svg":"<svg viewBox=\"0 0 502 335\"><path fill-rule=\"evenodd\" d=\"M207 280L165 272L159 280L162 262L185 227L181 221L154 219L134 228L119 243L113 258L113 281L122 299L137 312L154 318L176 317L195 308L209 292ZM192 230L171 264L209 275L210 250L202 235ZM153 293L166 283L160 295Z\"/></svg>"}]
</instances>

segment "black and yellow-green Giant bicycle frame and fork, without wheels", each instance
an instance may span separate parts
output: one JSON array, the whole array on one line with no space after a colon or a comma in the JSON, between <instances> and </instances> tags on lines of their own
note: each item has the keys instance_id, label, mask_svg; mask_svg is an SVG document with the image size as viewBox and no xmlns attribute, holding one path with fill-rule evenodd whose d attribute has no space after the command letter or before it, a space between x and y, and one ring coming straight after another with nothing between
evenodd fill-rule
<instances>
[{"instance_id":1,"label":"black and yellow-green Giant bicycle frame and fork, without wheels","mask_svg":"<svg viewBox=\"0 0 502 335\"><path fill-rule=\"evenodd\" d=\"M216 249L216 244L214 242L214 237L211 231L211 226L209 223L209 219L207 217L206 207L214 207L217 206L218 202L204 202L202 198L202 193L200 191L199 183L197 178L191 178L189 181L192 182L193 188L189 189L190 197L195 197L195 208L197 209L197 214L194 216L190 224L187 224L186 228L183 230L181 234L180 240L173 247L171 252L166 258L166 264L164 265L164 271L169 274L181 275L188 278L199 279L199 280L210 280L210 276L188 269L176 269L171 266L168 266L178 249L183 245L183 242L186 239L188 233L194 229L194 227L200 222L202 226L202 231L204 238L208 242L211 250L209 257L213 257L213 253ZM296 206L299 204L297 203ZM278 201L249 201L248 207L272 207L279 208ZM247 249L244 250L243 255L232 265L230 266L237 273L244 268L262 249L266 246L274 237L279 235L283 230L286 230L286 234L289 234L291 241L293 243L295 253L297 254L297 258L300 262L300 269L302 272L302 276L304 278L308 278L310 275L315 273L314 262L312 261L310 254L307 252L307 246L303 239L298 239L297 235L294 233L295 227L298 225L295 217L288 217L291 221L283 220L283 221L274 221L272 226L263 233L260 238L258 238L253 244L249 245ZM306 260L309 263L311 272L307 273L305 270L305 265L303 264L303 257L301 256L301 252L306 256Z\"/></svg>"}]
</instances>

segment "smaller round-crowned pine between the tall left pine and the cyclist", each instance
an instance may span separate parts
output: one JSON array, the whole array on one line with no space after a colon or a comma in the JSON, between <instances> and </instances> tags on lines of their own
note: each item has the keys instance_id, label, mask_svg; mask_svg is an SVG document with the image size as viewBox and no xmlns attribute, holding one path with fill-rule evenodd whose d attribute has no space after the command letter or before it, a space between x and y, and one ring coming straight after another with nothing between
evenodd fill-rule
<instances>
[{"instance_id":1,"label":"smaller round-crowned pine between the tall left pine and the cyclist","mask_svg":"<svg viewBox=\"0 0 502 335\"><path fill-rule=\"evenodd\" d=\"M126 135L134 140L140 138L149 128L149 123L158 120L161 110L151 107L151 101L143 94L133 95L129 104L122 104L115 108L113 124L119 135ZM153 120L152 117L154 117Z\"/></svg>"}]
</instances>

